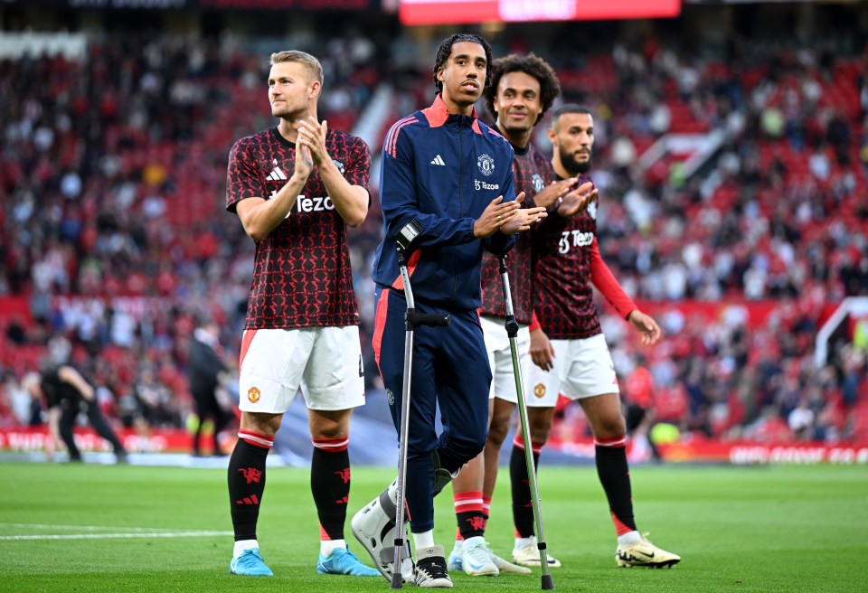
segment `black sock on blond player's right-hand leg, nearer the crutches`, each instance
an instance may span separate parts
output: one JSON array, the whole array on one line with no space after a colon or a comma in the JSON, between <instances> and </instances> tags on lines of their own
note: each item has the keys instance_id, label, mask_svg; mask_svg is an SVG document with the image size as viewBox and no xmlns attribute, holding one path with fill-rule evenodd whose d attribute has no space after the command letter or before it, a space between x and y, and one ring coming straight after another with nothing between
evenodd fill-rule
<instances>
[{"instance_id":1,"label":"black sock on blond player's right-hand leg, nearer the crutches","mask_svg":"<svg viewBox=\"0 0 868 593\"><path fill-rule=\"evenodd\" d=\"M322 448L338 439L315 439L310 461L310 492L314 495L319 525L329 540L344 539L346 504L350 494L350 455L343 448ZM325 538L323 538L325 539Z\"/></svg>"}]
</instances>

